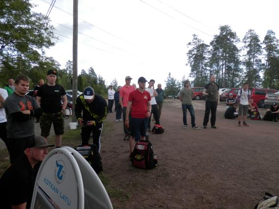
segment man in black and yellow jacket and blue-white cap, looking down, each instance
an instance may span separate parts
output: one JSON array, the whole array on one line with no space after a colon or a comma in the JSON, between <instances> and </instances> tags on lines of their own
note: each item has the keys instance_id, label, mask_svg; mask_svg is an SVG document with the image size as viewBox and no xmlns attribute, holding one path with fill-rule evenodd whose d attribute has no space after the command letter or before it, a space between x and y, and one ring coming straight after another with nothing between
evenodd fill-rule
<instances>
[{"instance_id":1,"label":"man in black and yellow jacket and blue-white cap, looking down","mask_svg":"<svg viewBox=\"0 0 279 209\"><path fill-rule=\"evenodd\" d=\"M88 86L84 89L83 94L77 98L75 115L78 123L82 126L81 144L89 145L88 141L92 133L93 144L100 152L103 121L107 117L107 102L100 95L95 94L92 87Z\"/></svg>"}]
</instances>

